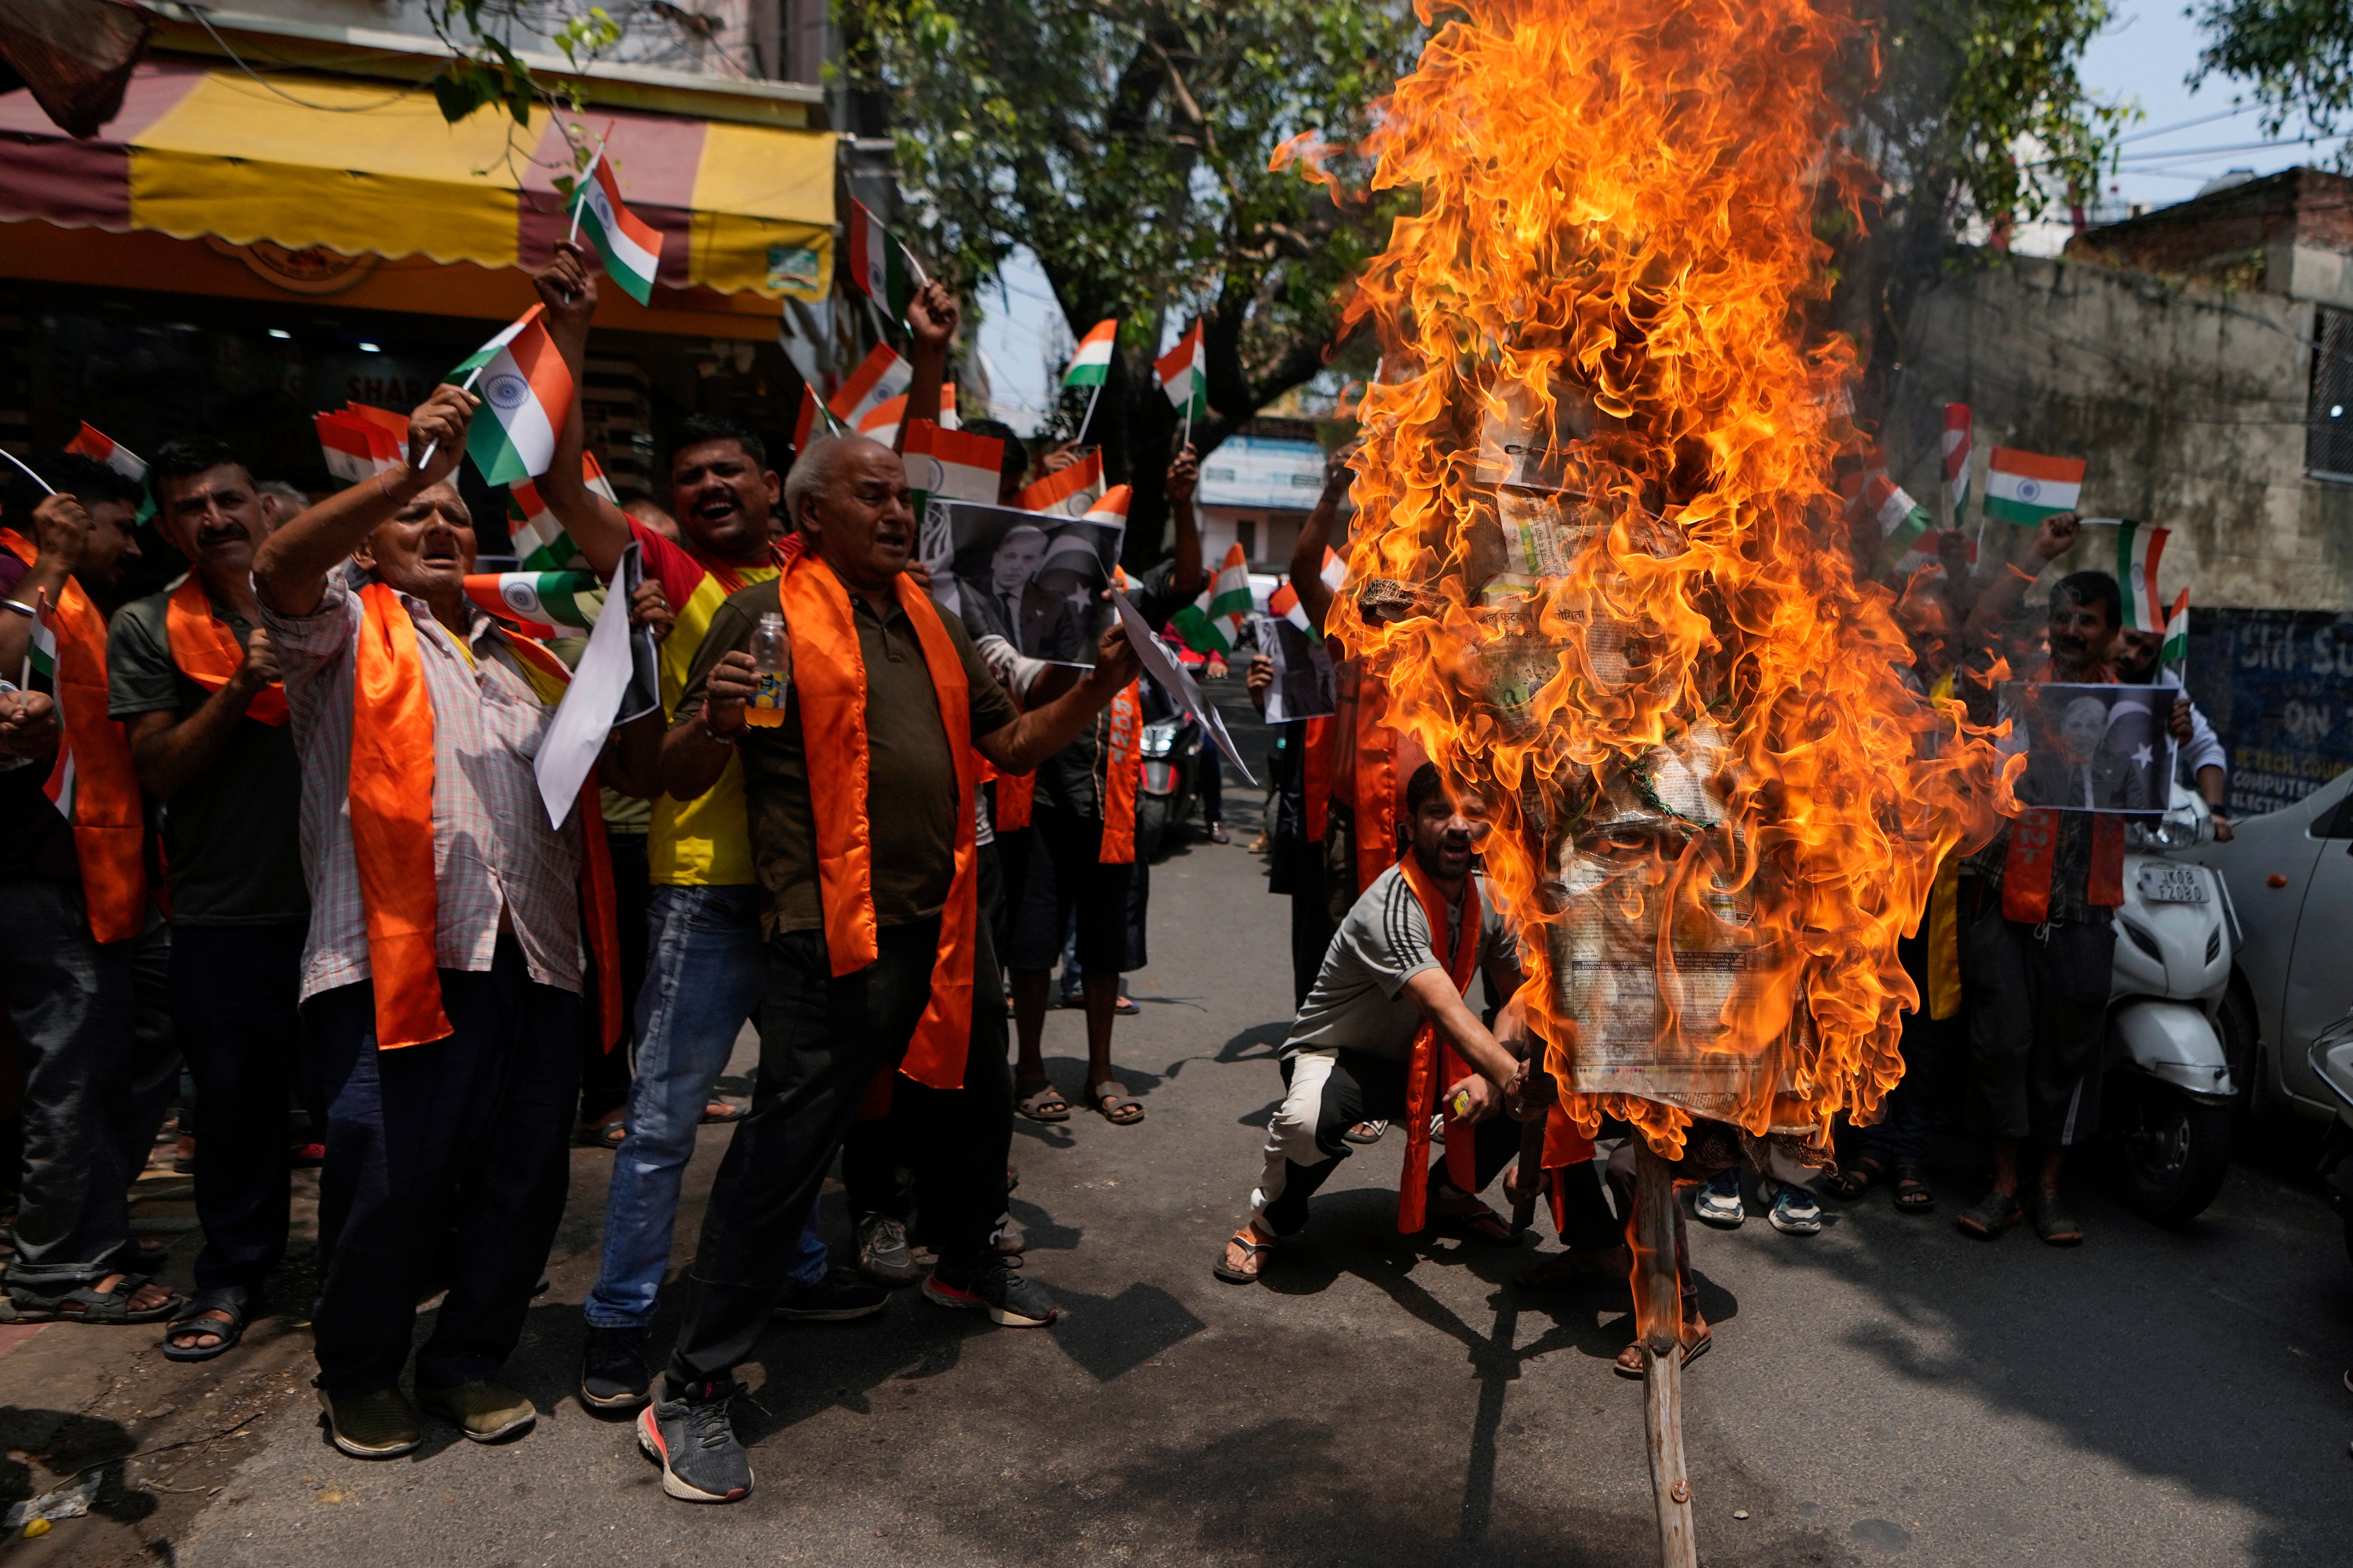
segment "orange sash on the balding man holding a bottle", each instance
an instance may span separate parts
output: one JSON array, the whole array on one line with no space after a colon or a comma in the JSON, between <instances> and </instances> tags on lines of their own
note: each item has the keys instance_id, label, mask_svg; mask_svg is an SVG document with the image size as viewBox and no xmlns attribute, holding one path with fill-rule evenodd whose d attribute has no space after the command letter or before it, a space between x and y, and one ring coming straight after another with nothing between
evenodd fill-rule
<instances>
[{"instance_id":1,"label":"orange sash on the balding man holding a bottle","mask_svg":"<svg viewBox=\"0 0 2353 1568\"><path fill-rule=\"evenodd\" d=\"M955 642L939 611L904 576L892 578L899 609L922 644L939 698L939 722L955 759L955 877L939 912L939 957L932 999L908 1041L904 1074L932 1088L965 1086L972 1046L972 969L979 936L979 853L972 792L979 769L972 752L972 691ZM873 896L873 827L868 820L871 762L866 752L866 656L849 611L849 592L821 559L802 555L776 583L793 639L793 696L809 752L809 816L816 823L816 893L826 912L826 959L835 976L856 973L880 957Z\"/></svg>"}]
</instances>

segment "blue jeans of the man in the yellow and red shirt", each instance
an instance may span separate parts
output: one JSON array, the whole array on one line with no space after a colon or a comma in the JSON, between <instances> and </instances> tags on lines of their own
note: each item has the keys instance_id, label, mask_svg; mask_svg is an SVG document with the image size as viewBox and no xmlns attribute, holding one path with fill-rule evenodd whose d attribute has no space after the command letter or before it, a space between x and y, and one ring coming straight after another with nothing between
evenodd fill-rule
<instances>
[{"instance_id":1,"label":"blue jeans of the man in the yellow and red shirt","mask_svg":"<svg viewBox=\"0 0 2353 1568\"><path fill-rule=\"evenodd\" d=\"M736 1034L760 1006L760 889L656 886L645 945L638 1072L628 1084L628 1135L612 1159L605 1197L605 1260L586 1307L591 1328L645 1328L654 1316L694 1128ZM826 1244L812 1206L791 1281L812 1286L824 1276Z\"/></svg>"}]
</instances>

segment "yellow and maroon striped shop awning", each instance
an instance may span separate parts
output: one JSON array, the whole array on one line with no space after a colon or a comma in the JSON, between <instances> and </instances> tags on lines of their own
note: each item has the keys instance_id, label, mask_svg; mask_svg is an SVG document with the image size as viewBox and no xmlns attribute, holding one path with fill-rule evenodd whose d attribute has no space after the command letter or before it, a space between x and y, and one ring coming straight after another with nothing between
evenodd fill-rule
<instances>
[{"instance_id":1,"label":"yellow and maroon striped shop awning","mask_svg":"<svg viewBox=\"0 0 2353 1568\"><path fill-rule=\"evenodd\" d=\"M826 294L831 134L628 110L586 125L664 233L656 282ZM536 266L565 233L553 176L569 167L546 115L447 125L421 87L148 61L94 141L49 125L31 92L0 94L0 221Z\"/></svg>"}]
</instances>

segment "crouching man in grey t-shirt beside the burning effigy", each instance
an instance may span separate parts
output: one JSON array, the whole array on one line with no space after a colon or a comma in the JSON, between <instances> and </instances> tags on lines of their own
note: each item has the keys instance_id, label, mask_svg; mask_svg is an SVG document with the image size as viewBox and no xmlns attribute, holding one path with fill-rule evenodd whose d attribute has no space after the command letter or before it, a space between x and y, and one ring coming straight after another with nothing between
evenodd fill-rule
<instances>
[{"instance_id":1,"label":"crouching man in grey t-shirt beside the burning effigy","mask_svg":"<svg viewBox=\"0 0 2353 1568\"><path fill-rule=\"evenodd\" d=\"M1489 997L1520 987L1520 950L1485 877L1471 872L1487 811L1475 797L1449 799L1428 762L1405 788L1405 811L1409 853L1348 910L1282 1041L1285 1095L1266 1126L1266 1168L1249 1194L1249 1220L1212 1269L1219 1279L1259 1279L1275 1241L1306 1225L1308 1197L1348 1157L1346 1133L1360 1121L1407 1131L1398 1229L1421 1229L1426 1218L1485 1241L1513 1239L1475 1194L1520 1147L1520 1128L1494 1112L1506 1098L1515 1114L1539 1110L1518 1105L1520 1060L1464 1004L1478 969L1487 971ZM1468 1072L1440 1072L1440 1056ZM1442 1105L1454 1135L1447 1157L1424 1173L1438 1084L1447 1084Z\"/></svg>"}]
</instances>

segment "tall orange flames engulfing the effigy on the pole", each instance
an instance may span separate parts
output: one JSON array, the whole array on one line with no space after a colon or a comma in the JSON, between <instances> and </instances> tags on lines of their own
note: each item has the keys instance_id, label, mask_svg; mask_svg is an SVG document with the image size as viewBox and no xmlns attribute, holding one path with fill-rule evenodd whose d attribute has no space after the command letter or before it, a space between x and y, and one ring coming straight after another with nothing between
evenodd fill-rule
<instances>
[{"instance_id":1,"label":"tall orange flames engulfing the effigy on the pole","mask_svg":"<svg viewBox=\"0 0 2353 1568\"><path fill-rule=\"evenodd\" d=\"M1875 1117L1897 938L1993 827L1986 733L1899 675L1906 623L1951 628L1857 574L1833 484L1854 38L1805 0L1466 0L1360 148L1419 209L1346 308L1384 369L1329 630L1487 797L1569 1114L1668 1157L1692 1117Z\"/></svg>"}]
</instances>

